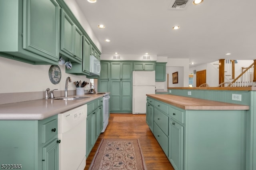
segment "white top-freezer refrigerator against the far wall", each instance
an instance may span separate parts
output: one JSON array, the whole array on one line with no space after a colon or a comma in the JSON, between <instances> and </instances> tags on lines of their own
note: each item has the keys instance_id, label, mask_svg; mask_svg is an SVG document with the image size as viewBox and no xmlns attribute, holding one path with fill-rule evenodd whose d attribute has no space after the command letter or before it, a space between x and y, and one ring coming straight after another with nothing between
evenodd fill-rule
<instances>
[{"instance_id":1,"label":"white top-freezer refrigerator against the far wall","mask_svg":"<svg viewBox=\"0 0 256 170\"><path fill-rule=\"evenodd\" d=\"M132 71L132 114L146 114L146 94L155 94L155 71Z\"/></svg>"}]
</instances>

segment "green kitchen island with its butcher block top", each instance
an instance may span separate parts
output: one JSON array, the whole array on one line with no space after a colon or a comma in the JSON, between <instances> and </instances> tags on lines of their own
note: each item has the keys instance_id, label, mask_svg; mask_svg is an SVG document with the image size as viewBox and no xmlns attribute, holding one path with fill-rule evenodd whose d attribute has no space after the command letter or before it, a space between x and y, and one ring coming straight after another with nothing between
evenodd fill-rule
<instances>
[{"instance_id":1,"label":"green kitchen island with its butcher block top","mask_svg":"<svg viewBox=\"0 0 256 170\"><path fill-rule=\"evenodd\" d=\"M248 105L147 95L146 121L175 170L245 170Z\"/></svg>"}]
</instances>

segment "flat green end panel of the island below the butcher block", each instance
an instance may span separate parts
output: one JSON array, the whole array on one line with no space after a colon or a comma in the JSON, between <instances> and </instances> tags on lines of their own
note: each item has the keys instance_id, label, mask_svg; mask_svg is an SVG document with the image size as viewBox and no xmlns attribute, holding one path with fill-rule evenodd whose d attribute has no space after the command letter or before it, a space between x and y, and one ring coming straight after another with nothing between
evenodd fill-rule
<instances>
[{"instance_id":1,"label":"flat green end panel of the island below the butcher block","mask_svg":"<svg viewBox=\"0 0 256 170\"><path fill-rule=\"evenodd\" d=\"M246 111L186 111L185 170L244 170Z\"/></svg>"}]
</instances>

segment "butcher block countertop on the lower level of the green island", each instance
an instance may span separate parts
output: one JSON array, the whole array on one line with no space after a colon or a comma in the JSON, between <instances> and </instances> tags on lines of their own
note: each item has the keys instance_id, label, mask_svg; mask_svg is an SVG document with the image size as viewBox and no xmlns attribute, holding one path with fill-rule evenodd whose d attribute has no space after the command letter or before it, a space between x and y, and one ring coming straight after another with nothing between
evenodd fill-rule
<instances>
[{"instance_id":1,"label":"butcher block countertop on the lower level of the green island","mask_svg":"<svg viewBox=\"0 0 256 170\"><path fill-rule=\"evenodd\" d=\"M183 97L168 94L148 94L147 96L184 110L249 110L249 106L247 105L224 103L192 97Z\"/></svg>"}]
</instances>

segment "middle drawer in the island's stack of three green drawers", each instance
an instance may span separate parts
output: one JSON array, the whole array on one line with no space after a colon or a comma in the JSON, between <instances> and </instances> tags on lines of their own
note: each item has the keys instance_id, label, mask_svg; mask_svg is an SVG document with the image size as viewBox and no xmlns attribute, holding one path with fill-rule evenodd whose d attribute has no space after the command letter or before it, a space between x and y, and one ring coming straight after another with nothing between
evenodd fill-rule
<instances>
[{"instance_id":1,"label":"middle drawer in the island's stack of three green drawers","mask_svg":"<svg viewBox=\"0 0 256 170\"><path fill-rule=\"evenodd\" d=\"M154 109L154 122L163 130L163 132L168 135L169 124L168 116L164 115L158 109Z\"/></svg>"}]
</instances>

